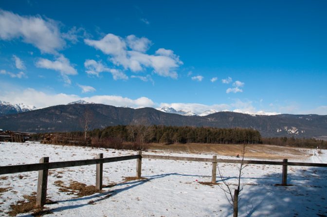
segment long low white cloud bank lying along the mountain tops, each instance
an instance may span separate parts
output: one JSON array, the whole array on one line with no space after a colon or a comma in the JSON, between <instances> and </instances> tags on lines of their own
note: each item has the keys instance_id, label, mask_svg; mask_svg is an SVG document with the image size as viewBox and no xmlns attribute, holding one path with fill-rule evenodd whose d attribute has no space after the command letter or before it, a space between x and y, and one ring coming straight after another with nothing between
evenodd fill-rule
<instances>
[{"instance_id":1,"label":"long low white cloud bank lying along the mountain tops","mask_svg":"<svg viewBox=\"0 0 327 217\"><path fill-rule=\"evenodd\" d=\"M0 71L1 73L1 71ZM117 96L117 95L93 95L90 97L80 97L73 94L65 93L48 93L43 91L38 91L32 88L20 89L15 87L10 90L12 87L11 84L4 83L0 86L0 99L3 101L11 103L23 103L26 105L34 105L37 108L44 108L55 105L68 104L77 100L85 100L87 102L94 102L99 104L111 105L116 107L131 107L131 108L140 108L140 107L172 107L176 110L188 110L193 113L201 114L206 110L214 109L217 111L226 111L233 110L234 112L241 112L246 114L260 114L260 115L275 115L280 114L273 111L263 111L256 110L252 105L252 101L241 101L235 99L234 103L228 104L214 104L214 105L203 105L196 103L154 103L151 99L147 97L139 97L137 99L130 99L127 97ZM88 87L88 86L86 86ZM49 100L51 99L51 100ZM315 112L309 113L318 113L322 115L327 115L327 106L321 106L317 109L314 109Z\"/></svg>"}]
</instances>

